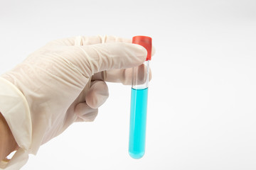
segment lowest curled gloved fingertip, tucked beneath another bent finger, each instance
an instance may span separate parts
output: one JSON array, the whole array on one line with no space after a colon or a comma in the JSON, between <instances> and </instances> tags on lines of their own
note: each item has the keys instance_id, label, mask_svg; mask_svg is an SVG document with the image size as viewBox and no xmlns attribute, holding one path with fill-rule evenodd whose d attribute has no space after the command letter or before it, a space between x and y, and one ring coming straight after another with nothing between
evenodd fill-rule
<instances>
[{"instance_id":1,"label":"lowest curled gloved fingertip, tucked beneath another bent finger","mask_svg":"<svg viewBox=\"0 0 256 170\"><path fill-rule=\"evenodd\" d=\"M90 108L87 103L79 103L75 107L75 114L78 115L76 122L92 122L97 117L97 113L97 108Z\"/></svg>"}]
</instances>

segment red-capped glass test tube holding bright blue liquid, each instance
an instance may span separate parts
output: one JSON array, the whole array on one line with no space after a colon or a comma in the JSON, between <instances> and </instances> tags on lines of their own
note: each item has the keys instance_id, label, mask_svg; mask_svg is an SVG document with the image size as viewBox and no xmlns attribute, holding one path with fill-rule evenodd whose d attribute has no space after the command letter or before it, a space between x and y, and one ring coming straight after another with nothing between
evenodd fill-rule
<instances>
[{"instance_id":1,"label":"red-capped glass test tube holding bright blue liquid","mask_svg":"<svg viewBox=\"0 0 256 170\"><path fill-rule=\"evenodd\" d=\"M146 108L149 88L149 60L151 60L152 39L135 36L132 43L142 45L147 50L144 64L132 69L132 95L129 124L129 155L140 159L145 153Z\"/></svg>"}]
</instances>

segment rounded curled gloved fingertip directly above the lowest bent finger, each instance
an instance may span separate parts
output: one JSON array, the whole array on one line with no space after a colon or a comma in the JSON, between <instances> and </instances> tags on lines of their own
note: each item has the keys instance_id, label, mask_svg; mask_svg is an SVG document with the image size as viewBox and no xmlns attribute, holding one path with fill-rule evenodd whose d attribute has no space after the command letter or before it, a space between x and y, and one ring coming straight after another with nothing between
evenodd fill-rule
<instances>
[{"instance_id":1,"label":"rounded curled gloved fingertip directly above the lowest bent finger","mask_svg":"<svg viewBox=\"0 0 256 170\"><path fill-rule=\"evenodd\" d=\"M99 108L109 96L109 91L105 81L92 81L90 89L85 95L85 101L90 108Z\"/></svg>"}]
</instances>

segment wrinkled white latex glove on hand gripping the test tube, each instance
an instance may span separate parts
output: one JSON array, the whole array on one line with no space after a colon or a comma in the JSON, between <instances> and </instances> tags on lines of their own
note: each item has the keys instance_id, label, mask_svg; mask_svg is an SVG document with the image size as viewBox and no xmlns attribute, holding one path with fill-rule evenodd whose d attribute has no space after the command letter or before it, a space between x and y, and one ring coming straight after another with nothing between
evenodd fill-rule
<instances>
[{"instance_id":1,"label":"wrinkled white latex glove on hand gripping the test tube","mask_svg":"<svg viewBox=\"0 0 256 170\"><path fill-rule=\"evenodd\" d=\"M26 118L21 115L19 120L26 124L24 137L1 111L18 146L29 146L28 152L36 154L40 145L73 122L94 120L97 108L108 97L105 81L130 84L131 69L127 68L146 59L144 47L131 42L112 36L54 40L1 75L21 91L23 102L28 104Z\"/></svg>"}]
</instances>

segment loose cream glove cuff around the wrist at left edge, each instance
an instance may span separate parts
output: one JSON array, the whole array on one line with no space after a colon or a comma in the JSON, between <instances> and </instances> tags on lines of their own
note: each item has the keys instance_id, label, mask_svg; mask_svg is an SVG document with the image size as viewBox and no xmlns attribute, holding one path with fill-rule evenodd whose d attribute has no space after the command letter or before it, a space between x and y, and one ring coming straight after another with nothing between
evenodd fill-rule
<instances>
[{"instance_id":1,"label":"loose cream glove cuff around the wrist at left edge","mask_svg":"<svg viewBox=\"0 0 256 170\"><path fill-rule=\"evenodd\" d=\"M21 167L23 164L26 164L28 150L31 147L31 114L28 102L21 91L19 91L14 84L11 84L11 82L2 77L0 77L0 112L6 119L18 147L20 147L10 161L0 162L0 169Z\"/></svg>"}]
</instances>

